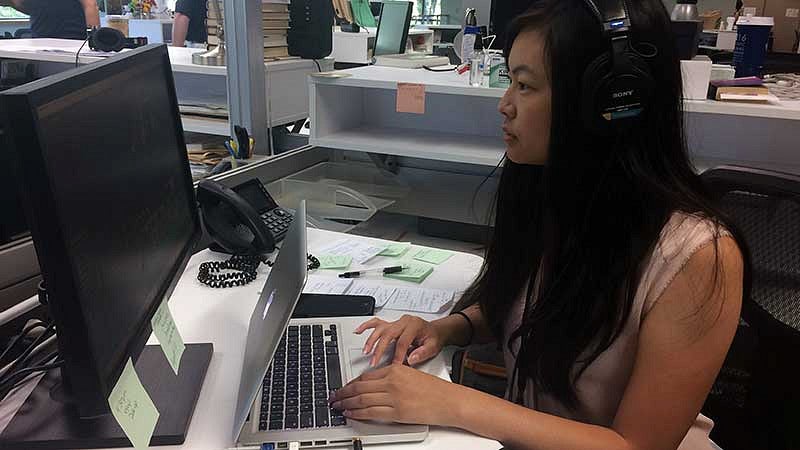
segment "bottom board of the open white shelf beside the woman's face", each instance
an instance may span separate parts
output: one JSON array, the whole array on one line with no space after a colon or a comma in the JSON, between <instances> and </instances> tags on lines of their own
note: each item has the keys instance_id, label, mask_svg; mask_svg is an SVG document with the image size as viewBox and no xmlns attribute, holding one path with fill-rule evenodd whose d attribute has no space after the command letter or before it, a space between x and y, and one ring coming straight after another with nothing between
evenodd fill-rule
<instances>
[{"instance_id":1,"label":"bottom board of the open white shelf beside the woman's face","mask_svg":"<svg viewBox=\"0 0 800 450\"><path fill-rule=\"evenodd\" d=\"M339 150L482 166L496 166L505 154L505 146L497 137L388 127L362 127L338 131L322 138L311 138L309 143Z\"/></svg>"}]
</instances>

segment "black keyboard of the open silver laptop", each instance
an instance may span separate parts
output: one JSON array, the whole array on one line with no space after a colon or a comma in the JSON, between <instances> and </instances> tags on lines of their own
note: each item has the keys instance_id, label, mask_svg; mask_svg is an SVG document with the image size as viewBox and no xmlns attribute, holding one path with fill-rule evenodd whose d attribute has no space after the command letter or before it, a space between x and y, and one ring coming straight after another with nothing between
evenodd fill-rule
<instances>
[{"instance_id":1,"label":"black keyboard of the open silver laptop","mask_svg":"<svg viewBox=\"0 0 800 450\"><path fill-rule=\"evenodd\" d=\"M328 395L342 387L336 325L292 325L264 377L258 429L347 425Z\"/></svg>"}]
</instances>

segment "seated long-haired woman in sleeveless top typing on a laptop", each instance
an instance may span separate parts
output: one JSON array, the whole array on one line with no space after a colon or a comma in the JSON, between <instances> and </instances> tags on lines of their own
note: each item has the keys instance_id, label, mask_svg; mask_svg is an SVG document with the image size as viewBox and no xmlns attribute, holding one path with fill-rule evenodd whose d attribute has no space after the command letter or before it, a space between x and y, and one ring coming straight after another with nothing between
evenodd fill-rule
<instances>
[{"instance_id":1,"label":"seated long-haired woman in sleeveless top typing on a laptop","mask_svg":"<svg viewBox=\"0 0 800 450\"><path fill-rule=\"evenodd\" d=\"M595 132L582 77L608 51L584 1L538 1L509 33L507 159L495 232L462 313L373 319L365 346L410 365L497 342L507 399L402 364L333 406L354 419L458 427L510 448L708 449L699 411L738 324L743 256L691 169L680 66L660 0L629 2L631 46L656 82L630 127ZM529 283L529 281L532 281Z\"/></svg>"}]
</instances>

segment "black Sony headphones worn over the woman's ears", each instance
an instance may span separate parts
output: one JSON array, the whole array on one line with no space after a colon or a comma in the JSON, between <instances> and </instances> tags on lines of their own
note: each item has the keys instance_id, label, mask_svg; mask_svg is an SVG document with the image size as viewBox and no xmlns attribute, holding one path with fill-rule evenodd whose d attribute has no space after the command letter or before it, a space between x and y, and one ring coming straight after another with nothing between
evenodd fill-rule
<instances>
[{"instance_id":1,"label":"black Sony headphones worn over the woman's ears","mask_svg":"<svg viewBox=\"0 0 800 450\"><path fill-rule=\"evenodd\" d=\"M643 56L631 46L627 1L584 3L602 24L610 49L583 73L583 121L590 130L610 134L627 128L647 111L655 80Z\"/></svg>"}]
</instances>

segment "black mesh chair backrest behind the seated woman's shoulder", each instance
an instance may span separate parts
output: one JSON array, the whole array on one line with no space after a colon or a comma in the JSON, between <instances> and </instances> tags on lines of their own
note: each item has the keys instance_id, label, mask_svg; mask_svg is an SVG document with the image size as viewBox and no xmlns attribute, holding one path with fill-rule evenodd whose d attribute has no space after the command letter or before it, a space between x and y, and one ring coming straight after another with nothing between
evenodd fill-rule
<instances>
[{"instance_id":1,"label":"black mesh chair backrest behind the seated woman's shoulder","mask_svg":"<svg viewBox=\"0 0 800 450\"><path fill-rule=\"evenodd\" d=\"M744 320L762 336L800 342L800 176L723 166L702 178L750 254Z\"/></svg>"}]
</instances>

